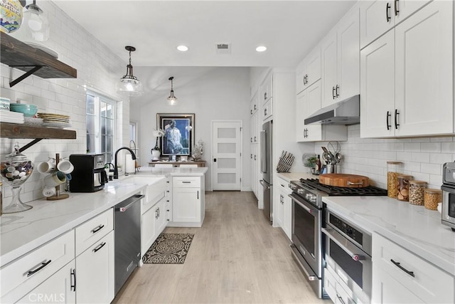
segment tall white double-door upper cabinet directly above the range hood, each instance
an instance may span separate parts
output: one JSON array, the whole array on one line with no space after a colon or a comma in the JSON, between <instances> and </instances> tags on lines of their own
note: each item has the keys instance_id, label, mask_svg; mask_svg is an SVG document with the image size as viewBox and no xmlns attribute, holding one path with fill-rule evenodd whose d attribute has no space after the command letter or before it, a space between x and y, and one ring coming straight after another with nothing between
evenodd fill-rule
<instances>
[{"instance_id":1,"label":"tall white double-door upper cabinet directly above the range hood","mask_svg":"<svg viewBox=\"0 0 455 304\"><path fill-rule=\"evenodd\" d=\"M321 43L322 108L359 94L359 39L355 6Z\"/></svg>"}]
</instances>

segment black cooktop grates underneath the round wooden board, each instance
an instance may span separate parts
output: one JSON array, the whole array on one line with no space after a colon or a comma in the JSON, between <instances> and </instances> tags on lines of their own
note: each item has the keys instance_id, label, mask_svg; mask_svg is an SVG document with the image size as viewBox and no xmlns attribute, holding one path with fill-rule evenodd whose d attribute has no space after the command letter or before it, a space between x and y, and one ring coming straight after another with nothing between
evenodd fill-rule
<instances>
[{"instance_id":1,"label":"black cooktop grates underneath the round wooden board","mask_svg":"<svg viewBox=\"0 0 455 304\"><path fill-rule=\"evenodd\" d=\"M374 186L349 188L349 187L335 187L321 184L319 179L300 179L301 184L318 189L330 196L386 196L387 190Z\"/></svg>"}]
</instances>

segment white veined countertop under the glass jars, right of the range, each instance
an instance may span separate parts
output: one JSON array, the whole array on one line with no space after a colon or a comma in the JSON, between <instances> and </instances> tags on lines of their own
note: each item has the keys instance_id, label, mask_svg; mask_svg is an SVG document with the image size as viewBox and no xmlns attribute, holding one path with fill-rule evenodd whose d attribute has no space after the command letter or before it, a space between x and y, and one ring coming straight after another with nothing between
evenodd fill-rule
<instances>
[{"instance_id":1,"label":"white veined countertop under the glass jars, right of the range","mask_svg":"<svg viewBox=\"0 0 455 304\"><path fill-rule=\"evenodd\" d=\"M331 211L387 239L455 276L455 232L439 211L387 196L326 196ZM373 257L374 258L374 257Z\"/></svg>"}]
</instances>

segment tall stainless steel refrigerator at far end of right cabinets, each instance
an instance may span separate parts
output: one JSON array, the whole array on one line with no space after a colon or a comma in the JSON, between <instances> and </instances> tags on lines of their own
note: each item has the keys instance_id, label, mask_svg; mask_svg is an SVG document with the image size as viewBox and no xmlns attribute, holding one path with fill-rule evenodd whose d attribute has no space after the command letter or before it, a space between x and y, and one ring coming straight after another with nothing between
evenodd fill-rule
<instances>
[{"instance_id":1,"label":"tall stainless steel refrigerator at far end of right cabinets","mask_svg":"<svg viewBox=\"0 0 455 304\"><path fill-rule=\"evenodd\" d=\"M272 224L272 198L273 198L273 122L265 122L261 130L261 173L262 179L260 183L264 189L264 215Z\"/></svg>"}]
</instances>

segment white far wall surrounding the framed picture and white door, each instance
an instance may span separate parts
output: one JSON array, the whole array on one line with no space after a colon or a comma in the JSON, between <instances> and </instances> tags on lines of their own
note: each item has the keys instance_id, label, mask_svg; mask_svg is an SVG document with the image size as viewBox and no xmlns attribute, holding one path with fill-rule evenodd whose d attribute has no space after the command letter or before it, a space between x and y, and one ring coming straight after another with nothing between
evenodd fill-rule
<instances>
[{"instance_id":1,"label":"white far wall surrounding the framed picture and white door","mask_svg":"<svg viewBox=\"0 0 455 304\"><path fill-rule=\"evenodd\" d=\"M148 68L138 68L137 75L144 73L144 69ZM170 76L166 75L166 80ZM176 77L174 83L177 81ZM242 154L250 155L250 69L213 68L183 86L174 85L174 93L178 98L178 104L175 106L166 103L169 91L166 91L161 98L150 100L145 94L132 99L131 119L139 122L140 164L147 167L151 159L150 150L156 142L152 132L156 129L156 113L194 113L194 139L195 142L198 140L204 142L203 159L209 167L205 175L205 189L211 191L210 122L212 120L242 120ZM250 189L249 158L243 158L242 174L242 188Z\"/></svg>"}]
</instances>

